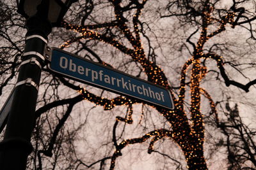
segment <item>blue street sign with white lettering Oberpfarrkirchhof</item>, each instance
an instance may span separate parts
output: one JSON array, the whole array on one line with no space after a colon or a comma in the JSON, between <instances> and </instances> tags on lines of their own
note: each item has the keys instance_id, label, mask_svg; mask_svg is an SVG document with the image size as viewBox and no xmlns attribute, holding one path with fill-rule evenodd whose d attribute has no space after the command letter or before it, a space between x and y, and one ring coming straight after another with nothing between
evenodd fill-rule
<instances>
[{"instance_id":1,"label":"blue street sign with white lettering Oberpfarrkirchhof","mask_svg":"<svg viewBox=\"0 0 256 170\"><path fill-rule=\"evenodd\" d=\"M59 48L52 48L49 69L100 89L134 97L164 108L174 108L172 95L168 89Z\"/></svg>"}]
</instances>

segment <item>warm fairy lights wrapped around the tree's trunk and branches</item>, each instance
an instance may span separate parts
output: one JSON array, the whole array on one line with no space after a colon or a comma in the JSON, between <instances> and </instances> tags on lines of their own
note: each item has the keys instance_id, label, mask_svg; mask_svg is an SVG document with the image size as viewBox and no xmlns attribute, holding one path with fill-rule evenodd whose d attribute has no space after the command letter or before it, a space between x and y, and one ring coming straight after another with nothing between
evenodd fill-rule
<instances>
[{"instance_id":1,"label":"warm fairy lights wrapped around the tree's trunk and branches","mask_svg":"<svg viewBox=\"0 0 256 170\"><path fill-rule=\"evenodd\" d=\"M141 67L143 67L143 71L147 74L148 81L156 83L157 85L161 85L170 89L170 85L168 84L167 78L163 72L163 70L157 66L154 62L151 62L147 59L146 54L144 52L143 45L140 39L140 27L138 25L139 17L141 14L141 10L143 9L143 5L147 1L144 0L140 6L137 6L136 13L133 15L132 22L133 22L133 31L129 28L127 24L125 24L125 18L120 9L120 2L112 1L113 8L115 8L115 24L108 24L108 25L115 25L118 27L120 31L124 34L125 38L131 43L133 48L128 48L124 44L121 43L120 40L117 40L111 36L107 36L106 34L100 34L97 32L97 25L93 27L82 26L82 25L72 25L68 24L67 22L63 22L63 27L65 29L76 31L81 36L71 39L67 41L61 48L65 48L72 43L76 42L79 39L94 39L97 41L102 41L108 45L111 45L120 52L125 53L126 55L130 56L135 62L140 63ZM201 95L203 94L207 99L209 99L209 103L211 106L212 113L215 115L216 120L218 120L218 114L216 111L216 104L212 100L210 94L200 87L200 81L206 76L207 68L202 66L201 60L205 59L214 59L217 62L218 66L223 65L222 57L219 55L215 55L213 53L204 53L204 45L205 43L220 34L220 32L225 30L225 26L229 23L232 25L234 22L235 13L229 12L225 17L222 17L221 20L217 20L220 24L220 27L216 29L216 31L211 32L210 34L207 32L207 28L209 27L212 22L216 22L215 18L212 18L212 11L214 8L209 5L205 5L204 12L202 15L202 30L200 32L200 38L198 39L193 56L191 59L184 64L182 67L182 71L180 73L180 89L178 99L174 99L175 102L175 109L174 110L166 110L161 107L153 106L156 108L161 115L163 115L170 125L172 126L172 131L168 131L166 129L157 129L151 132L148 132L144 136L140 138L133 138L133 139L124 139L119 144L115 146L115 152L113 153L113 157L111 159L111 167L110 169L115 168L116 158L119 157L121 151L125 146L132 145L134 143L143 143L148 139L151 139L150 144L148 146L148 153L152 153L154 150L154 143L159 141L162 138L172 138L177 145L179 145L180 149L183 151L186 161L188 164L189 169L207 169L205 159L204 159L204 115L200 111L200 101ZM93 31L93 28L96 31ZM191 103L189 108L189 114L191 115L191 120L188 120L186 111L184 110L184 100L186 94L186 78L188 77L188 69L191 69L190 75L190 94L191 94ZM134 99L129 99L127 97L116 97L115 99L106 99L103 97L98 97L88 92L86 89L82 88L79 90L81 96L84 99L95 103L99 106L103 106L105 110L111 110L115 106L125 105L129 107L129 112L127 117L116 117L117 122L124 122L127 124L132 124L132 104L140 103L140 101L136 101ZM173 92L171 91L172 96Z\"/></svg>"}]
</instances>

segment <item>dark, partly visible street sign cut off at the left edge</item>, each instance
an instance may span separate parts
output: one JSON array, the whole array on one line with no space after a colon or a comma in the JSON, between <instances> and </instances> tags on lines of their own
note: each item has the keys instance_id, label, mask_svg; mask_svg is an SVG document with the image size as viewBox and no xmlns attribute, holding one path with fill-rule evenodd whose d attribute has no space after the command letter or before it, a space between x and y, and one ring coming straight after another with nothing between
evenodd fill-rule
<instances>
[{"instance_id":1,"label":"dark, partly visible street sign cut off at the left edge","mask_svg":"<svg viewBox=\"0 0 256 170\"><path fill-rule=\"evenodd\" d=\"M6 125L6 123L7 123L7 118L8 118L8 115L10 113L10 110L11 110L13 96L14 96L13 91L14 91L14 88L13 88L10 96L8 97L6 102L4 103L3 108L0 111L0 134L3 131L3 129Z\"/></svg>"}]
</instances>

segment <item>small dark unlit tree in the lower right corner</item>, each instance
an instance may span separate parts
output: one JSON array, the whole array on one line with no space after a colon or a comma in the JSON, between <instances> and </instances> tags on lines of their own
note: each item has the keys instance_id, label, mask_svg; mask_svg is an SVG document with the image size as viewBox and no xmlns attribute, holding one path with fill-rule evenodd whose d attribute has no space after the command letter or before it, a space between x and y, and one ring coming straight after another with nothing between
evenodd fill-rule
<instances>
[{"instance_id":1,"label":"small dark unlit tree in the lower right corner","mask_svg":"<svg viewBox=\"0 0 256 170\"><path fill-rule=\"evenodd\" d=\"M255 169L255 129L244 124L237 104L230 108L227 103L223 111L227 120L218 124L225 138L223 145L227 148L228 169Z\"/></svg>"}]
</instances>

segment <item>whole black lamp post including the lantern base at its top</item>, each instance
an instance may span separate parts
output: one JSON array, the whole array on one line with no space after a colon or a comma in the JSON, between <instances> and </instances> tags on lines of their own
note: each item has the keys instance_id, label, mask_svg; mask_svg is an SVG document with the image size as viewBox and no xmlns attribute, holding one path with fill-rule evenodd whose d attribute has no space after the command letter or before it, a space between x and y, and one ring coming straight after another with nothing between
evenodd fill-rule
<instances>
[{"instance_id":1,"label":"whole black lamp post including the lantern base at its top","mask_svg":"<svg viewBox=\"0 0 256 170\"><path fill-rule=\"evenodd\" d=\"M76 0L17 0L18 13L27 19L26 45L4 139L0 143L0 169L26 169L32 152L30 138L35 125L35 108L47 36L58 27Z\"/></svg>"}]
</instances>

